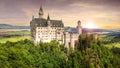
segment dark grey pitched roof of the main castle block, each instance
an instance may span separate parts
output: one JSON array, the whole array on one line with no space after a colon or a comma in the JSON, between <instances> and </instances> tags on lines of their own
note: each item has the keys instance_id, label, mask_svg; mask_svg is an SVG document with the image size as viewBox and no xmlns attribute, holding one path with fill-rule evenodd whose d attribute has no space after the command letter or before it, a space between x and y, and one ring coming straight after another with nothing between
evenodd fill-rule
<instances>
[{"instance_id":1,"label":"dark grey pitched roof of the main castle block","mask_svg":"<svg viewBox=\"0 0 120 68\"><path fill-rule=\"evenodd\" d=\"M37 24L37 27L47 27L47 20L44 18L34 18L31 23ZM62 20L50 20L51 27L64 27Z\"/></svg>"}]
</instances>

